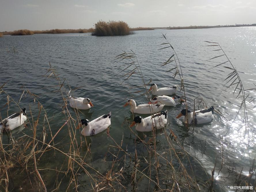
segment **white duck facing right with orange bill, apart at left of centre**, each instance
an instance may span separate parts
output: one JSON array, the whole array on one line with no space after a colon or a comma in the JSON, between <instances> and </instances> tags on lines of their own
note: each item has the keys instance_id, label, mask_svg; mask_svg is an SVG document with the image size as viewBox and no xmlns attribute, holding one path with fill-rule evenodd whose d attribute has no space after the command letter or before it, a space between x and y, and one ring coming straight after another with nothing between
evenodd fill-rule
<instances>
[{"instance_id":1,"label":"white duck facing right with orange bill, apart at left of centre","mask_svg":"<svg viewBox=\"0 0 256 192\"><path fill-rule=\"evenodd\" d=\"M83 98L83 97L73 97L73 96L69 96L69 105L72 108L81 109L81 110L90 109L91 106L93 106L90 99Z\"/></svg>"}]
</instances>

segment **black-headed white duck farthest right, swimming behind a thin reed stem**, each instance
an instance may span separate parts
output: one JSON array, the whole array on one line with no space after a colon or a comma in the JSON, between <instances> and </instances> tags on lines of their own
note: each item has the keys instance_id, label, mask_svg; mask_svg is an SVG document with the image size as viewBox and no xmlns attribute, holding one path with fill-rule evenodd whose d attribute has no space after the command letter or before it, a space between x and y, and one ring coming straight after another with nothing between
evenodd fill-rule
<instances>
[{"instance_id":1,"label":"black-headed white duck farthest right, swimming behind a thin reed stem","mask_svg":"<svg viewBox=\"0 0 256 192\"><path fill-rule=\"evenodd\" d=\"M176 118L178 119L181 116L185 116L183 118L183 123L186 123L186 121L188 120L189 124L193 124L195 119L195 124L198 125L198 124L211 122L214 118L213 112L214 112L214 107L211 106L209 109L206 108L206 109L195 111L195 117L194 117L193 112L187 110L187 117L186 117L186 109L182 109L181 113L177 115Z\"/></svg>"}]
</instances>

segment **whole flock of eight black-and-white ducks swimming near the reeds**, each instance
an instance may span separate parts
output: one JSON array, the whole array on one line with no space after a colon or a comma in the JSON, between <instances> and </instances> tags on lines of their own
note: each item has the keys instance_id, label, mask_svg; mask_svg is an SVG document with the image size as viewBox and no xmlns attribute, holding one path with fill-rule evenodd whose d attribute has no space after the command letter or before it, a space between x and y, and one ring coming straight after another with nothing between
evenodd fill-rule
<instances>
[{"instance_id":1,"label":"whole flock of eight black-and-white ducks swimming near the reeds","mask_svg":"<svg viewBox=\"0 0 256 192\"><path fill-rule=\"evenodd\" d=\"M129 99L124 107L130 105L130 111L137 114L153 114L149 117L142 118L141 116L134 117L133 123L130 127L136 125L136 130L140 132L149 132L153 129L161 129L167 123L167 110L161 111L163 107L166 106L176 106L183 102L184 100L180 96L170 97L176 94L178 90L178 85L173 87L159 88L156 84L151 84L149 92L154 95L154 97L147 104L136 105L133 99ZM169 96L168 96L169 95ZM69 105L75 109L90 109L93 104L89 98L73 97L69 96ZM201 109L198 111L181 110L181 113L177 115L176 118L185 116L183 118L183 123L188 122L189 124L203 124L208 123L213 120L214 107L211 106L209 109ZM11 116L3 119L0 123L0 131L10 131L22 124L25 125L26 109L23 108L20 113L14 113ZM82 127L81 134L84 136L93 136L98 134L111 125L111 112L104 114L92 121L88 119L81 119L77 125L77 129Z\"/></svg>"}]
</instances>

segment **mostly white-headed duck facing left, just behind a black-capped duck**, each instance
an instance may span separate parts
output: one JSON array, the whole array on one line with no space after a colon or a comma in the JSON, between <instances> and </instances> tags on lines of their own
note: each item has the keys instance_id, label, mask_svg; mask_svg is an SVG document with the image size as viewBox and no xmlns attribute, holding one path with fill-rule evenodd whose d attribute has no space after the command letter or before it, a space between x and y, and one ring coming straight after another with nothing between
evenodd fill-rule
<instances>
[{"instance_id":1,"label":"mostly white-headed duck facing left, just behind a black-capped duck","mask_svg":"<svg viewBox=\"0 0 256 192\"><path fill-rule=\"evenodd\" d=\"M127 105L131 106L130 111L132 113L139 113L139 114L151 114L159 112L163 109L163 104L140 104L136 105L136 102L133 99L129 99L126 104L124 104L124 107Z\"/></svg>"}]
</instances>

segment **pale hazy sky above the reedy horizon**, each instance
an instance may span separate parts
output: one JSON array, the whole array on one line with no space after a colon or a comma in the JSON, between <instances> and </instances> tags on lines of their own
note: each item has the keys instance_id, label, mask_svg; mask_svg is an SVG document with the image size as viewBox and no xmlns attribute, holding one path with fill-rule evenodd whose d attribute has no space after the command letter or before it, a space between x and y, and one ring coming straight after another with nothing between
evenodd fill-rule
<instances>
[{"instance_id":1,"label":"pale hazy sky above the reedy horizon","mask_svg":"<svg viewBox=\"0 0 256 192\"><path fill-rule=\"evenodd\" d=\"M130 27L256 23L255 0L0 0L0 31L90 28L98 20Z\"/></svg>"}]
</instances>

